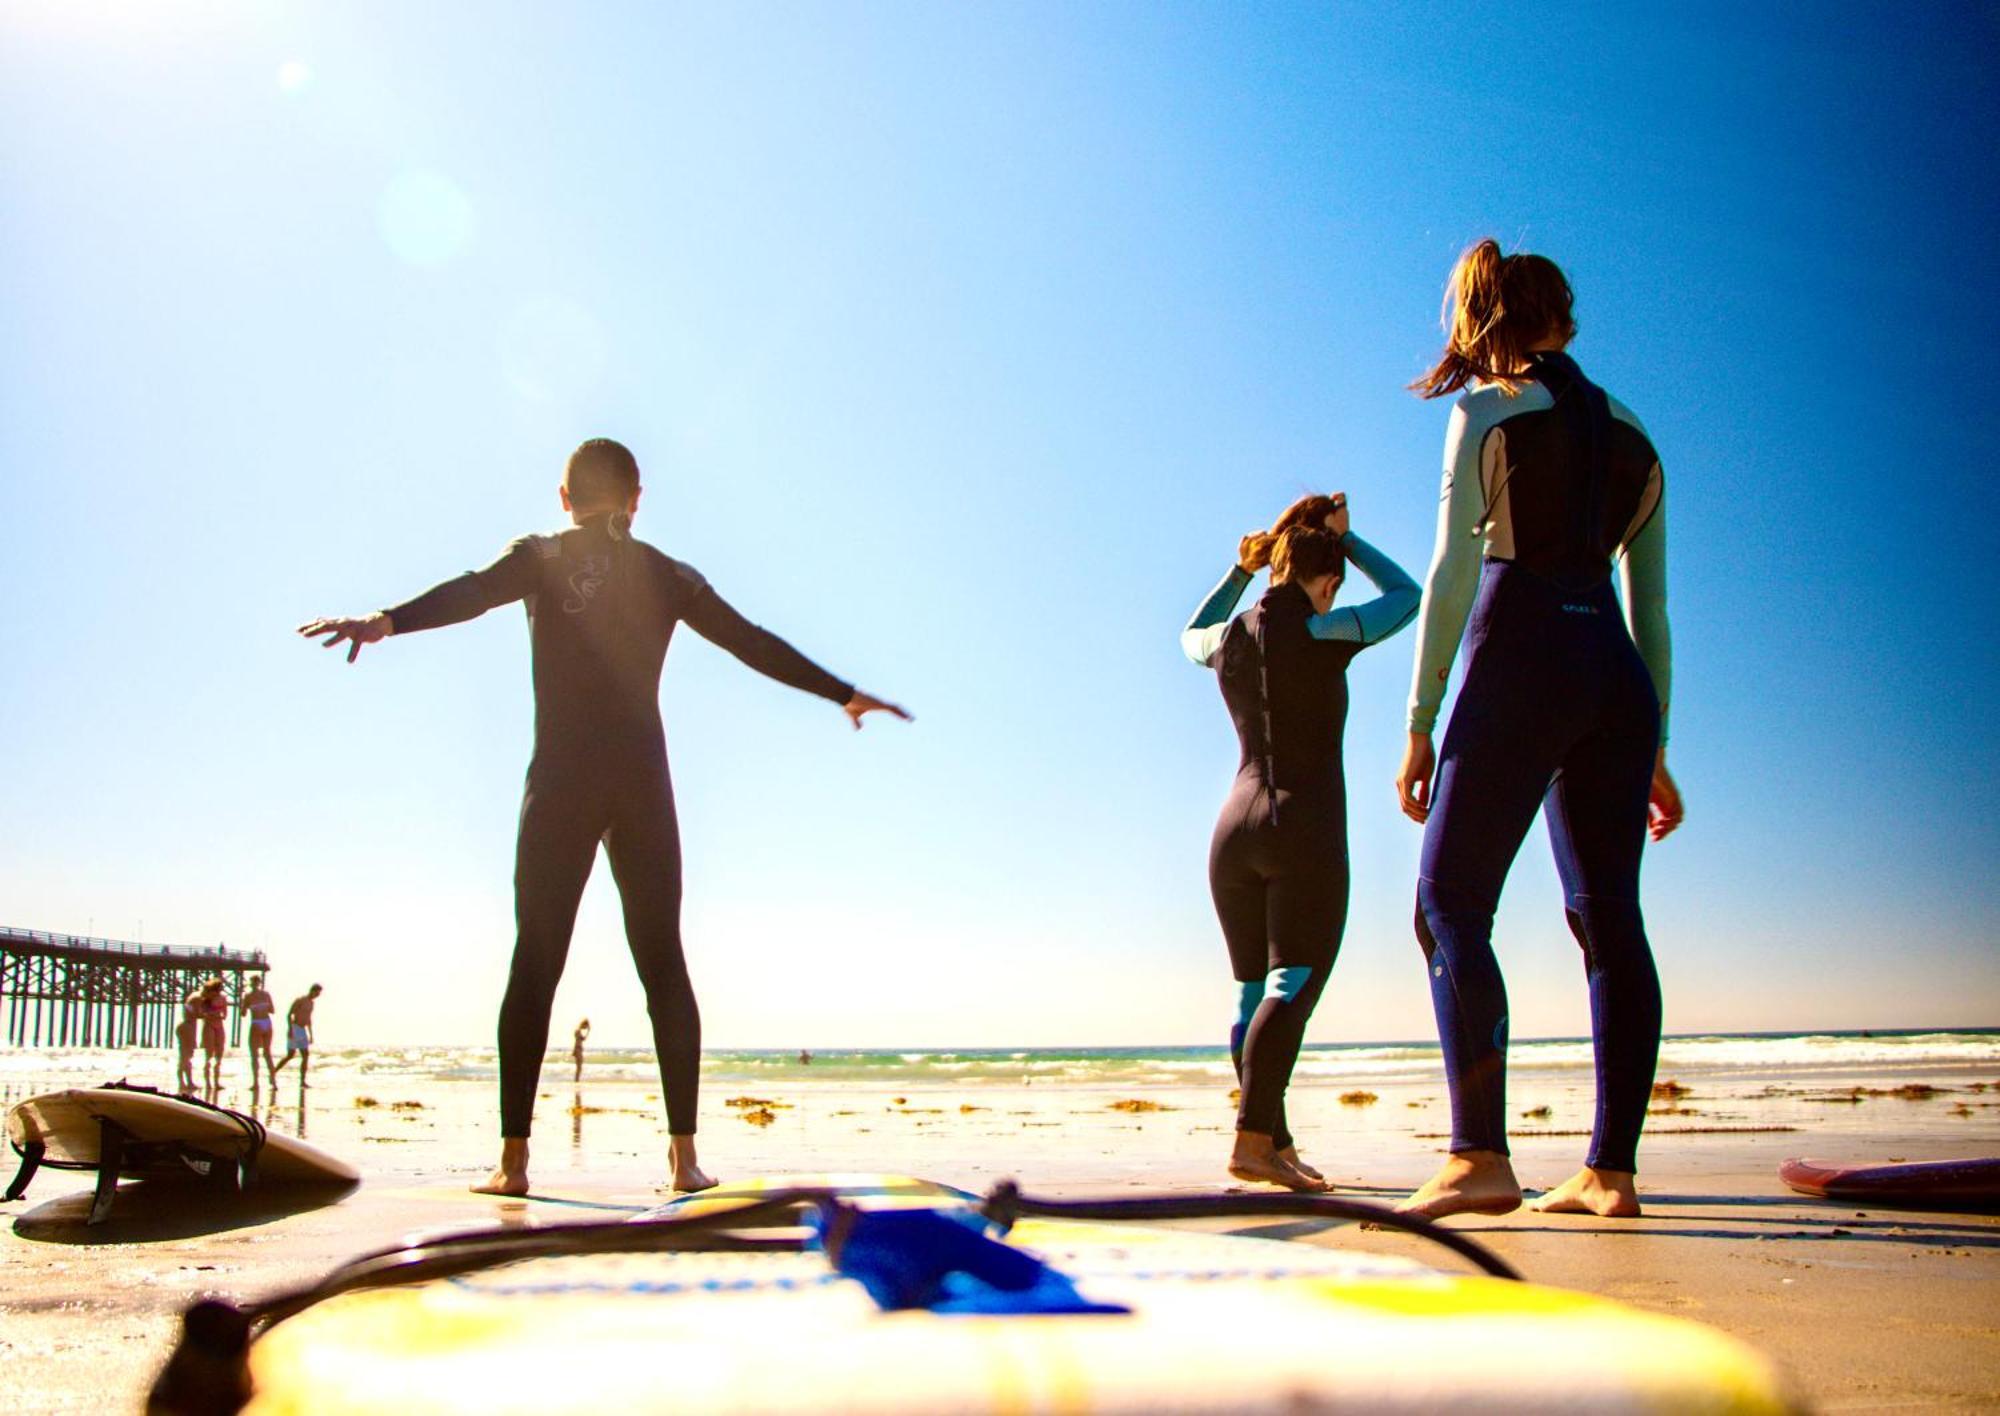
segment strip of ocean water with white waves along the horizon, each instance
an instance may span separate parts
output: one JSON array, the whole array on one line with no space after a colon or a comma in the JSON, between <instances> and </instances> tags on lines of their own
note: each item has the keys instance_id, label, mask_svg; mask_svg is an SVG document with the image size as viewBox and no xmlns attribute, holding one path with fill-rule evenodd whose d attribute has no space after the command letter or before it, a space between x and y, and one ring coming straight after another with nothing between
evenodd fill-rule
<instances>
[{"instance_id":1,"label":"strip of ocean water with white waves along the horizon","mask_svg":"<svg viewBox=\"0 0 2000 1416\"><path fill-rule=\"evenodd\" d=\"M586 1078L592 1084L630 1082L658 1086L650 1048L590 1048ZM1590 1072L1588 1038L1516 1040L1508 1054L1514 1074ZM240 1066L240 1050L230 1068ZM106 1048L0 1048L0 1084L70 1084L128 1078L144 1084L172 1080L166 1050ZM544 1084L564 1080L568 1052L548 1054ZM1660 1076L1736 1076L1768 1080L1846 1078L1918 1070L1972 1072L2000 1084L2000 1028L1956 1032L1806 1032L1806 1034L1708 1034L1666 1038ZM486 1082L496 1076L492 1046L354 1046L320 1048L312 1074L336 1086L420 1086L426 1082ZM1296 1086L1438 1082L1444 1066L1436 1042L1328 1042L1308 1046L1294 1072ZM968 1088L968 1086L1216 1086L1234 1084L1230 1056L1220 1046L1158 1048L826 1048L800 1062L786 1050L712 1050L702 1076L720 1086L862 1086L862 1088Z\"/></svg>"}]
</instances>

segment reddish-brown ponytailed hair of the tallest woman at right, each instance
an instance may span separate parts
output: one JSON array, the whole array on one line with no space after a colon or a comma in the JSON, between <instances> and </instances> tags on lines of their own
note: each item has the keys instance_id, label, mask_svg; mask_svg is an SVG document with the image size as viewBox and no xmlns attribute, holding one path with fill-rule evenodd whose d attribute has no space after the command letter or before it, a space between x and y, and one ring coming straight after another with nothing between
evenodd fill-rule
<instances>
[{"instance_id":1,"label":"reddish-brown ponytailed hair of the tallest woman at right","mask_svg":"<svg viewBox=\"0 0 2000 1416\"><path fill-rule=\"evenodd\" d=\"M1514 390L1528 346L1576 334L1570 282L1548 256L1500 254L1492 236L1470 246L1444 282L1444 354L1410 384L1420 398L1456 394L1474 378Z\"/></svg>"}]
</instances>

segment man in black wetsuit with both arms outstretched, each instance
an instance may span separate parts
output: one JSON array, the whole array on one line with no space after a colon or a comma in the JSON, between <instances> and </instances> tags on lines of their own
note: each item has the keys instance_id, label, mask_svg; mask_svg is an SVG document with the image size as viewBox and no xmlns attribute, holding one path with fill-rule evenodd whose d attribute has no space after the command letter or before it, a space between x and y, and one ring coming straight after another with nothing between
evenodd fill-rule
<instances>
[{"instance_id":1,"label":"man in black wetsuit with both arms outstretched","mask_svg":"<svg viewBox=\"0 0 2000 1416\"><path fill-rule=\"evenodd\" d=\"M674 626L686 622L760 674L840 704L856 728L872 712L910 714L744 620L692 566L632 540L640 478L622 444L582 444L558 496L574 522L568 530L522 536L486 570L358 620L314 620L300 634L324 634L326 648L348 642L352 664L364 644L390 634L526 602L534 758L514 864L514 964L500 1004L500 1166L474 1190L528 1192L528 1128L548 1014L600 840L652 1016L672 1184L704 1190L714 1180L694 1152L702 1024L680 944L680 828L660 726L660 668Z\"/></svg>"}]
</instances>

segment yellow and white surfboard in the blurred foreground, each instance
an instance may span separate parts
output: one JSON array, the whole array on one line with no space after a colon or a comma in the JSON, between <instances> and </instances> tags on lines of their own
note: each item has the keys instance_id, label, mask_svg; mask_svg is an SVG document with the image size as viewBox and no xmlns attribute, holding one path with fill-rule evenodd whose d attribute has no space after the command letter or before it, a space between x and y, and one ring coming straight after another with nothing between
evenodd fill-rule
<instances>
[{"instance_id":1,"label":"yellow and white surfboard in the blurred foreground","mask_svg":"<svg viewBox=\"0 0 2000 1416\"><path fill-rule=\"evenodd\" d=\"M960 1204L800 1176L664 1208L822 1180ZM246 1410L1798 1410L1742 1342L1588 1294L1142 1224L1022 1220L1008 1242L1130 1314L882 1312L822 1254L538 1258L276 1324L250 1348Z\"/></svg>"}]
</instances>

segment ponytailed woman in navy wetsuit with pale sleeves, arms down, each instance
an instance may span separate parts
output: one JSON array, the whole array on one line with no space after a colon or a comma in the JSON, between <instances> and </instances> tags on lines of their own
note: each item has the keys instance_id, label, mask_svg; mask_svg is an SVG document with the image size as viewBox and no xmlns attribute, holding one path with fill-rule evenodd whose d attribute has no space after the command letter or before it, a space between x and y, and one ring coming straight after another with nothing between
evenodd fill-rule
<instances>
[{"instance_id":1,"label":"ponytailed woman in navy wetsuit with pale sleeves, arms down","mask_svg":"<svg viewBox=\"0 0 2000 1416\"><path fill-rule=\"evenodd\" d=\"M1584 1168L1536 1208L1638 1214L1660 1052L1640 854L1682 818L1666 770L1666 488L1638 418L1564 352L1570 306L1554 262L1482 240L1452 268L1444 356L1414 384L1424 398L1466 390L1444 436L1396 780L1404 814L1424 822L1416 928L1452 1092L1452 1156L1400 1206L1430 1218L1520 1204L1492 924L1538 808L1584 950L1598 1108ZM1460 638L1470 656L1440 758L1430 734Z\"/></svg>"}]
</instances>

